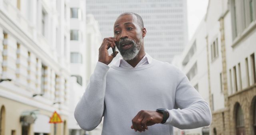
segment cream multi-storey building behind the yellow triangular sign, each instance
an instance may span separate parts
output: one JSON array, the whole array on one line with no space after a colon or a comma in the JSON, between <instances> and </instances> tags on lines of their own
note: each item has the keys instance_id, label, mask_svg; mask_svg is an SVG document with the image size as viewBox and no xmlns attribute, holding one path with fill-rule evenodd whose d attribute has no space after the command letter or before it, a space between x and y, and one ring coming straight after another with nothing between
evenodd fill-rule
<instances>
[{"instance_id":1,"label":"cream multi-storey building behind the yellow triangular sign","mask_svg":"<svg viewBox=\"0 0 256 135\"><path fill-rule=\"evenodd\" d=\"M68 2L0 0L0 135L68 134Z\"/></svg>"}]
</instances>

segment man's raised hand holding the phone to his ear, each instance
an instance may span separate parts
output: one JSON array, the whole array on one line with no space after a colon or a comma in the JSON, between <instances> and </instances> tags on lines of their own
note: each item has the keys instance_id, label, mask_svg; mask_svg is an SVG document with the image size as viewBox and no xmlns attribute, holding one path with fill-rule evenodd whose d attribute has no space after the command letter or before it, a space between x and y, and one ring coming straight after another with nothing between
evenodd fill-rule
<instances>
[{"instance_id":1,"label":"man's raised hand holding the phone to his ear","mask_svg":"<svg viewBox=\"0 0 256 135\"><path fill-rule=\"evenodd\" d=\"M118 54L118 52L115 52L115 54L108 54L108 49L114 48L116 47L116 39L114 39L113 37L110 38L104 38L100 48L99 48L99 62L102 62L106 65L110 64L110 62L112 62L112 60L114 59L114 57L116 57L116 54Z\"/></svg>"}]
</instances>

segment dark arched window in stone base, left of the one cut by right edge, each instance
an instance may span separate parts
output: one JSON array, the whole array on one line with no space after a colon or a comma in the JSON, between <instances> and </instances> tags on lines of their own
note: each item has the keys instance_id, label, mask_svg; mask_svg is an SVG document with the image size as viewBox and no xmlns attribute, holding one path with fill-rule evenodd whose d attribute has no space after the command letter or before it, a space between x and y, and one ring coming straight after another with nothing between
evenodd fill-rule
<instances>
[{"instance_id":1,"label":"dark arched window in stone base, left of the one cut by right edge","mask_svg":"<svg viewBox=\"0 0 256 135\"><path fill-rule=\"evenodd\" d=\"M236 104L236 135L246 135L244 127L244 113L242 107Z\"/></svg>"}]
</instances>

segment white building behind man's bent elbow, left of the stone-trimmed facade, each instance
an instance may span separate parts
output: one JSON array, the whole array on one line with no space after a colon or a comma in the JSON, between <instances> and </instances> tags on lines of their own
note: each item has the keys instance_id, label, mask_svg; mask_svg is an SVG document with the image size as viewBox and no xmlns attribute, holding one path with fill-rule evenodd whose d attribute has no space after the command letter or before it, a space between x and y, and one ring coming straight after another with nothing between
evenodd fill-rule
<instances>
[{"instance_id":1,"label":"white building behind man's bent elbow, left of the stone-trimmed facade","mask_svg":"<svg viewBox=\"0 0 256 135\"><path fill-rule=\"evenodd\" d=\"M172 64L179 67L188 77L190 83L209 103L207 48L206 48L206 23L200 23L194 36L184 48L180 56L176 56ZM203 132L204 131L204 132ZM207 132L208 131L208 132ZM209 127L201 127L190 130L174 129L175 135L207 135ZM205 134L202 134L205 133Z\"/></svg>"}]
</instances>

